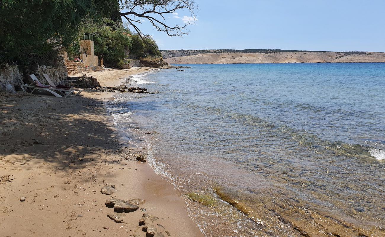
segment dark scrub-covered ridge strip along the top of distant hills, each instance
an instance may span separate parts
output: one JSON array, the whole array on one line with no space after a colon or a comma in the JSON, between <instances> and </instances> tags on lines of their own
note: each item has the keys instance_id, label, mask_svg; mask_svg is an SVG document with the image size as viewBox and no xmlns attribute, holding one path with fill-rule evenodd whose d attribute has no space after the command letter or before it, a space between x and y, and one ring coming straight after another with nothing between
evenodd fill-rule
<instances>
[{"instance_id":1,"label":"dark scrub-covered ridge strip along the top of distant hills","mask_svg":"<svg viewBox=\"0 0 385 237\"><path fill-rule=\"evenodd\" d=\"M345 55L351 54L367 54L367 52L332 52L332 51L310 51L310 50L285 50L285 49L181 49L181 50L161 50L163 59L171 57L184 57L196 54L211 54L211 53L287 53L287 52L305 52L305 53L343 53Z\"/></svg>"}]
</instances>

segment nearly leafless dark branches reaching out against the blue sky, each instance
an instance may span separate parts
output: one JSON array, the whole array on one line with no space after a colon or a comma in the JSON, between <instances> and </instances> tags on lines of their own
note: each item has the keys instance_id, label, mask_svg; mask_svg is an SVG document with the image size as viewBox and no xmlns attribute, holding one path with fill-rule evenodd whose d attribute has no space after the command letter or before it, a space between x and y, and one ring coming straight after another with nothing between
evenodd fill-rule
<instances>
[{"instance_id":1,"label":"nearly leafless dark branches reaching out against the blue sky","mask_svg":"<svg viewBox=\"0 0 385 237\"><path fill-rule=\"evenodd\" d=\"M197 7L193 0L121 0L121 9L120 15L126 18L146 44L151 44L137 26L142 19L147 19L156 30L166 32L169 36L182 36L188 34L186 27L189 23L169 25L165 16L177 10L187 10L195 18L194 10Z\"/></svg>"}]
</instances>

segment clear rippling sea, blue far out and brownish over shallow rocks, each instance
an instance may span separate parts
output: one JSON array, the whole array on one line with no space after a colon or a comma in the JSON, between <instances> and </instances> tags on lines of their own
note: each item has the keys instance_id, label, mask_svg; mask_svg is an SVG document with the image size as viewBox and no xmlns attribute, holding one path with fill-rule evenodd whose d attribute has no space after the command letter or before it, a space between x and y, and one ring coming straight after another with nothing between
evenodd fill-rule
<instances>
[{"instance_id":1,"label":"clear rippling sea, blue far out and brownish over shallow rocks","mask_svg":"<svg viewBox=\"0 0 385 237\"><path fill-rule=\"evenodd\" d=\"M385 236L385 64L189 66L111 111L204 234Z\"/></svg>"}]
</instances>

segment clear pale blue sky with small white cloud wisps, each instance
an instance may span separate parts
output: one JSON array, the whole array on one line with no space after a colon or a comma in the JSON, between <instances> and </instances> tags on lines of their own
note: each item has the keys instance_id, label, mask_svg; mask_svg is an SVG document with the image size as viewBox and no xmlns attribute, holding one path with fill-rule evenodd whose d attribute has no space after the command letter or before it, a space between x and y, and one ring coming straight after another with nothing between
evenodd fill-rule
<instances>
[{"instance_id":1,"label":"clear pale blue sky with small white cloud wisps","mask_svg":"<svg viewBox=\"0 0 385 237\"><path fill-rule=\"evenodd\" d=\"M385 52L385 0L195 0L168 24L190 22L169 37L142 22L160 49L292 49Z\"/></svg>"}]
</instances>

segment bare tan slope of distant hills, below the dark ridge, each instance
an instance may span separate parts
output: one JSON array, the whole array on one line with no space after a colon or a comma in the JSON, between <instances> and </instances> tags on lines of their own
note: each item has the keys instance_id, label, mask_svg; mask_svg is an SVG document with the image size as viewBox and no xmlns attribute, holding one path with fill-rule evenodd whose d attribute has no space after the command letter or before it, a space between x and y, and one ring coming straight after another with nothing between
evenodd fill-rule
<instances>
[{"instance_id":1,"label":"bare tan slope of distant hills, below the dark ridge","mask_svg":"<svg viewBox=\"0 0 385 237\"><path fill-rule=\"evenodd\" d=\"M164 60L169 64L234 64L286 62L385 62L385 53L345 55L336 52L213 53Z\"/></svg>"}]
</instances>

